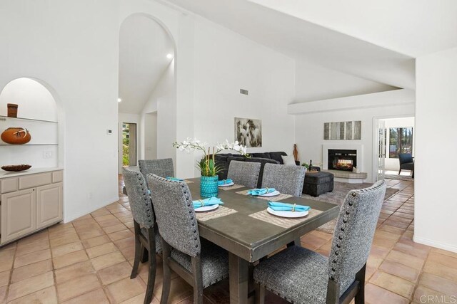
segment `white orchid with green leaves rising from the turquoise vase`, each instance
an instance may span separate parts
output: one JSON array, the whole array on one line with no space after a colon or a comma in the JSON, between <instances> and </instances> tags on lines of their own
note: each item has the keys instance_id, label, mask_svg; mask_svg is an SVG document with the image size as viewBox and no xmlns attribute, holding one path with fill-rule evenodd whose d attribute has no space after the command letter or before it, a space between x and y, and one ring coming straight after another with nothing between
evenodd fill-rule
<instances>
[{"instance_id":1,"label":"white orchid with green leaves rising from the turquoise vase","mask_svg":"<svg viewBox=\"0 0 457 304\"><path fill-rule=\"evenodd\" d=\"M246 146L240 145L238 141L236 142L229 142L226 140L225 142L218 143L216 147L213 147L213 151L211 153L211 148L206 148L208 144L206 142L201 142L196 138L191 139L187 138L183 142L174 142L173 147L176 147L179 151L186 151L192 152L200 150L204 153L200 162L197 162L196 167L200 169L202 177L215 177L216 174L223 170L222 167L216 166L216 162L214 157L217 153L224 151L224 150L233 150L238 152L241 155L245 155L248 157L249 155L246 153Z\"/></svg>"}]
</instances>

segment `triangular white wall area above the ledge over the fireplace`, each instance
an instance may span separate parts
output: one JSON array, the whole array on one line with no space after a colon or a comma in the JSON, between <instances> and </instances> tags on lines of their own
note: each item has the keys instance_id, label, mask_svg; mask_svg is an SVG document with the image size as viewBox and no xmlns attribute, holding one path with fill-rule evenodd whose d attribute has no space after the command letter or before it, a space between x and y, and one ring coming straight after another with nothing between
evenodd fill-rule
<instances>
[{"instance_id":1,"label":"triangular white wall area above the ledge over the fireplace","mask_svg":"<svg viewBox=\"0 0 457 304\"><path fill-rule=\"evenodd\" d=\"M394 90L395 87L297 61L293 103Z\"/></svg>"}]
</instances>

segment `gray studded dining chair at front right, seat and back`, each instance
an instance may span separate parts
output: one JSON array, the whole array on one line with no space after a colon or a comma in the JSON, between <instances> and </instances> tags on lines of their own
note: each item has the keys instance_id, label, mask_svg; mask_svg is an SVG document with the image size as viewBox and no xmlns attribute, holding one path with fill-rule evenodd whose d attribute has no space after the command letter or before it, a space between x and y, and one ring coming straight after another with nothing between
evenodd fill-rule
<instances>
[{"instance_id":1,"label":"gray studded dining chair at front right, seat and back","mask_svg":"<svg viewBox=\"0 0 457 304\"><path fill-rule=\"evenodd\" d=\"M364 303L365 269L386 182L346 195L326 256L292 246L254 268L256 303L265 290L292 303Z\"/></svg>"}]
</instances>

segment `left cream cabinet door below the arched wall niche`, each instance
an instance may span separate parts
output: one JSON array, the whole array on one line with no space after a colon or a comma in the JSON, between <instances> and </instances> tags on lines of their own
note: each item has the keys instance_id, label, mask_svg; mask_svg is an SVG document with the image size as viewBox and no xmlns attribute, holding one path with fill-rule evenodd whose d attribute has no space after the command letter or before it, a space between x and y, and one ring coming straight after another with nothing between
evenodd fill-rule
<instances>
[{"instance_id":1,"label":"left cream cabinet door below the arched wall niche","mask_svg":"<svg viewBox=\"0 0 457 304\"><path fill-rule=\"evenodd\" d=\"M1 195L1 243L35 231L35 208L34 188Z\"/></svg>"}]
</instances>

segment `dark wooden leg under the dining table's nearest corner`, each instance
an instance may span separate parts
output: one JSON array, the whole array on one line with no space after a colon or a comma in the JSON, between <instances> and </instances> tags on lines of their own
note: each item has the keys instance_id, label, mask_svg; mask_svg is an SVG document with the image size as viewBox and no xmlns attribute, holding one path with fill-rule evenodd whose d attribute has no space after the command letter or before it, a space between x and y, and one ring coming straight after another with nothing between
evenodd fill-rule
<instances>
[{"instance_id":1,"label":"dark wooden leg under the dining table's nearest corner","mask_svg":"<svg viewBox=\"0 0 457 304\"><path fill-rule=\"evenodd\" d=\"M230 304L248 303L249 263L229 252Z\"/></svg>"}]
</instances>

